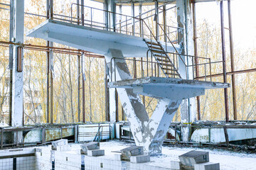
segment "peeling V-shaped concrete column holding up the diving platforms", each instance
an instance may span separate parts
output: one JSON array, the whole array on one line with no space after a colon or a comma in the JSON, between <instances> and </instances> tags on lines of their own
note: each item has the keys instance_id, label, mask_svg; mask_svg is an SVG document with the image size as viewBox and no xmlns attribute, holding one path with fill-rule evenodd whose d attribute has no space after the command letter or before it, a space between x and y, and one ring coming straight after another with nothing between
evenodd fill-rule
<instances>
[{"instance_id":1,"label":"peeling V-shaped concrete column holding up the diving platforms","mask_svg":"<svg viewBox=\"0 0 256 170\"><path fill-rule=\"evenodd\" d=\"M112 60L113 57L115 60ZM120 50L110 49L110 52L105 55L105 59L110 69L112 80L132 79ZM161 145L181 100L171 101L168 98L161 97L151 119L149 119L139 94L135 94L133 89L124 88L117 88L117 92L136 145L143 146L144 151L149 154L161 154Z\"/></svg>"}]
</instances>

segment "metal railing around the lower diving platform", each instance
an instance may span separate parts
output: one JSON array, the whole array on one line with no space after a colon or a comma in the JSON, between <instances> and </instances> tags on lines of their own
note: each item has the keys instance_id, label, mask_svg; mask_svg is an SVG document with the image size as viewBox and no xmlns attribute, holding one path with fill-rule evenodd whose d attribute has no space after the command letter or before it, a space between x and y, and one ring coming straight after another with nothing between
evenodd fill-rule
<instances>
[{"instance_id":1,"label":"metal railing around the lower diving platform","mask_svg":"<svg viewBox=\"0 0 256 170\"><path fill-rule=\"evenodd\" d=\"M148 50L148 53L151 50ZM167 54L169 55L169 58L171 60L171 62L176 66L176 69L178 69L179 71L179 67L180 67L180 63L183 64L183 66L185 67L185 74L188 74L188 71L193 71L193 74L191 76L193 77L182 77L183 79L196 79L196 66L198 67L198 69L201 70L200 77L205 77L205 81L207 81L208 79L210 79L210 81L212 81L212 77L211 77L211 62L210 62L210 58L206 58L206 57L195 57L192 55L178 55L175 52L167 52ZM179 60L179 57L181 57ZM182 60L182 58L186 58L186 57L190 57L192 62L191 64L186 64L186 62L184 62ZM195 64L195 59L198 58L201 62L198 64ZM134 62L137 62L137 69L142 70L141 72L136 71L136 77L137 78L142 78L142 77L166 77L166 75L164 74L164 72L161 72L161 69L159 68L158 64L159 62L156 62L155 58L152 55L147 55L146 57L141 57L140 59L133 59L133 58L116 58L113 57L110 60L110 81L117 81L117 70L116 70L116 66L117 66L117 62L123 62L125 61L127 63L127 66L129 68L129 72L133 74L132 71L132 64ZM165 62L163 60L160 60L160 63L164 64ZM215 62L214 62L215 63ZM171 70L171 69L170 69ZM174 72L174 71L170 71L170 72ZM210 76L210 77L209 77ZM209 77L209 78L208 78ZM178 78L175 74L171 74L170 78Z\"/></svg>"}]
</instances>

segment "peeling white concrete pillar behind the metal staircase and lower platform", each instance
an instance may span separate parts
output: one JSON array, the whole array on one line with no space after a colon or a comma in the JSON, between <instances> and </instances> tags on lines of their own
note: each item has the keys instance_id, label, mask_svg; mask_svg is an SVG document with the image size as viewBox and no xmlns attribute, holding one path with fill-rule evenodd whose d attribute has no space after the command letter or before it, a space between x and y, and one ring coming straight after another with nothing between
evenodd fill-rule
<instances>
[{"instance_id":1,"label":"peeling white concrete pillar behind the metal staircase and lower platform","mask_svg":"<svg viewBox=\"0 0 256 170\"><path fill-rule=\"evenodd\" d=\"M192 7L189 0L176 1L178 15L178 44L181 45L182 55L193 55L193 22L192 22ZM182 56L187 65L192 64L192 58ZM182 79L193 79L192 67L186 68L185 64L179 59L179 70ZM181 103L181 123L191 124L196 120L196 100L188 98ZM182 128L182 140L189 140L189 128Z\"/></svg>"}]
</instances>

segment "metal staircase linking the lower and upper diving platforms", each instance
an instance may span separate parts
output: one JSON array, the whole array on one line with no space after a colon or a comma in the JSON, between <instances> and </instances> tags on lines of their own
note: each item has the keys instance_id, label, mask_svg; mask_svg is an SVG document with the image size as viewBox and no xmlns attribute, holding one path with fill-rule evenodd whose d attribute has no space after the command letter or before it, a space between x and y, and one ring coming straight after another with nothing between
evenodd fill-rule
<instances>
[{"instance_id":1,"label":"metal staircase linking the lower and upper diving platforms","mask_svg":"<svg viewBox=\"0 0 256 170\"><path fill-rule=\"evenodd\" d=\"M151 55L154 56L157 64L164 72L166 77L181 78L181 75L178 73L178 69L176 69L174 63L171 62L169 55L164 50L164 47L161 45L161 43L159 41L153 42L152 40L147 41L145 39L144 41L149 47Z\"/></svg>"}]
</instances>

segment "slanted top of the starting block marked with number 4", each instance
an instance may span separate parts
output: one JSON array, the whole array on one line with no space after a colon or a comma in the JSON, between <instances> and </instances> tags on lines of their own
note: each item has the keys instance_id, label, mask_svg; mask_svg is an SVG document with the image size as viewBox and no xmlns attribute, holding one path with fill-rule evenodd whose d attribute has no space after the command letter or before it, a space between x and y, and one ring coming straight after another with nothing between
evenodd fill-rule
<instances>
[{"instance_id":1,"label":"slanted top of the starting block marked with number 4","mask_svg":"<svg viewBox=\"0 0 256 170\"><path fill-rule=\"evenodd\" d=\"M178 156L181 164L193 167L194 164L209 162L209 152L191 151Z\"/></svg>"}]
</instances>

